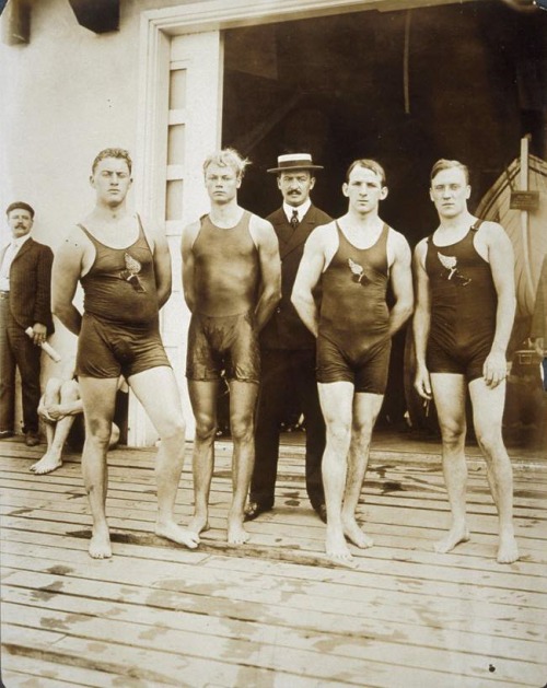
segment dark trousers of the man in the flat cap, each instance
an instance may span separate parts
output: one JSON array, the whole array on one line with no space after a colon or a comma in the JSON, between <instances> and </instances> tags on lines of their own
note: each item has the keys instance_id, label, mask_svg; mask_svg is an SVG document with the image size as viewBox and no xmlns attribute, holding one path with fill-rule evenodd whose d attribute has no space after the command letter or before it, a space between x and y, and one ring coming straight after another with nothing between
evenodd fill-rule
<instances>
[{"instance_id":1,"label":"dark trousers of the man in the flat cap","mask_svg":"<svg viewBox=\"0 0 547 688\"><path fill-rule=\"evenodd\" d=\"M15 368L21 375L25 432L38 431L39 371L42 349L16 324L9 296L0 294L0 430L13 431Z\"/></svg>"}]
</instances>

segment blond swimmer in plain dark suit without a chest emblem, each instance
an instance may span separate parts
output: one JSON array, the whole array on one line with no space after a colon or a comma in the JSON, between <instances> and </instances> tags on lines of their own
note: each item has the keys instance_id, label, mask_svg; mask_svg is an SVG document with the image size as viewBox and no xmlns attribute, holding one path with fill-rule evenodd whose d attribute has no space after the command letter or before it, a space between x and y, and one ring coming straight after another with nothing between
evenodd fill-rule
<instances>
[{"instance_id":1,"label":"blond swimmer in plain dark suit without a chest emblem","mask_svg":"<svg viewBox=\"0 0 547 688\"><path fill-rule=\"evenodd\" d=\"M258 333L280 298L280 260L269 222L237 203L247 161L233 149L203 163L210 211L183 233L183 285L191 312L186 376L196 419L195 513L189 528L209 527L219 386L230 388L233 441L228 541L248 539L244 508L254 464L254 416L260 380Z\"/></svg>"}]
</instances>

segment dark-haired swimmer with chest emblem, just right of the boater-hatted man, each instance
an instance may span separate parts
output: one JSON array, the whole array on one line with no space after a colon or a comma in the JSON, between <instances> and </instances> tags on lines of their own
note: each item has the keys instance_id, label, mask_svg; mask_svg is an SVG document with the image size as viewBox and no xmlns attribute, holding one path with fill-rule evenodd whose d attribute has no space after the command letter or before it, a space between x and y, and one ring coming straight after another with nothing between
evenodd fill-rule
<instances>
[{"instance_id":1,"label":"dark-haired swimmer with chest emblem, just right of the boater-hatted man","mask_svg":"<svg viewBox=\"0 0 547 688\"><path fill-rule=\"evenodd\" d=\"M323 482L327 506L325 549L351 562L346 538L372 546L356 521L372 431L384 399L392 336L412 312L410 248L379 217L387 196L385 173L373 160L356 160L342 193L348 212L310 236L292 301L317 337L317 382L327 425ZM322 283L321 308L314 289ZM394 305L386 303L391 282Z\"/></svg>"}]
</instances>

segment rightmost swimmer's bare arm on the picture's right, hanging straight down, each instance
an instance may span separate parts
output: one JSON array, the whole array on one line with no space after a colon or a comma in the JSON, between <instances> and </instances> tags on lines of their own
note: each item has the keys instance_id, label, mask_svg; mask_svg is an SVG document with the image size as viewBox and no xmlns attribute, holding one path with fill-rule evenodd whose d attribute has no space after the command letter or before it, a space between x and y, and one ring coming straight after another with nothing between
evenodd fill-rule
<instances>
[{"instance_id":1,"label":"rightmost swimmer's bare arm on the picture's right, hanging straight down","mask_svg":"<svg viewBox=\"0 0 547 688\"><path fill-rule=\"evenodd\" d=\"M496 333L492 348L482 368L482 374L487 385L496 387L505 380L505 352L516 308L514 255L511 240L500 224L496 222L485 223L481 225L481 231L486 238L488 260L492 270L496 293L498 294Z\"/></svg>"}]
</instances>

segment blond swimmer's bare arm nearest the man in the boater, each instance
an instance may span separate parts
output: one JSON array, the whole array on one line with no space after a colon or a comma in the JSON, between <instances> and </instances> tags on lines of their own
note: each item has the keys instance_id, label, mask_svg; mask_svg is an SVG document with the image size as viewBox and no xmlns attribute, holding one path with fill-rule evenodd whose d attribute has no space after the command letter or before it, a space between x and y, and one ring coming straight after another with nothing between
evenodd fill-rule
<instances>
[{"instance_id":1,"label":"blond swimmer's bare arm nearest the man in the boater","mask_svg":"<svg viewBox=\"0 0 547 688\"><path fill-rule=\"evenodd\" d=\"M248 229L260 261L260 295L255 308L255 323L260 330L281 299L281 259L277 235L269 222L253 215Z\"/></svg>"}]
</instances>

